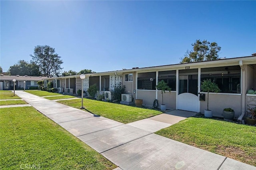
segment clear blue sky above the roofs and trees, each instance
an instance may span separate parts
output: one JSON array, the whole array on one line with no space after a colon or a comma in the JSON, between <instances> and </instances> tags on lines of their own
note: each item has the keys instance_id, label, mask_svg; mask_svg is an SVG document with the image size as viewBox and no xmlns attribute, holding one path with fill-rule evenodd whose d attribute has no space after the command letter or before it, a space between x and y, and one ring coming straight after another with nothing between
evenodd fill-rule
<instances>
[{"instance_id":1,"label":"clear blue sky above the roofs and trees","mask_svg":"<svg viewBox=\"0 0 256 170\"><path fill-rule=\"evenodd\" d=\"M63 71L176 64L197 39L256 53L256 1L0 1L0 65L50 45Z\"/></svg>"}]
</instances>

